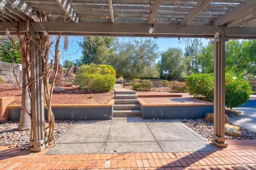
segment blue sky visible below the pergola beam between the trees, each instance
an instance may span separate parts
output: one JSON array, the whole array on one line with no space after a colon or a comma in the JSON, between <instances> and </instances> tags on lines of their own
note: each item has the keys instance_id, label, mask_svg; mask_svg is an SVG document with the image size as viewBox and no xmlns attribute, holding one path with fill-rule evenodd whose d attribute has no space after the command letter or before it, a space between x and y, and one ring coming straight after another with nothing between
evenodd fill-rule
<instances>
[{"instance_id":1,"label":"blue sky visible below the pergola beam between the trees","mask_svg":"<svg viewBox=\"0 0 256 170\"><path fill-rule=\"evenodd\" d=\"M79 43L82 42L81 36L69 36L68 37L68 50L65 51L63 49L64 47L64 37L60 40L60 47L59 50L61 51L60 55L60 64L63 64L65 60L74 61L76 59L80 59L82 56L82 49L79 47ZM166 51L168 48L180 48L182 51L185 51L186 43L192 43L193 39L187 39L187 38L181 38L178 40L178 38L158 38L154 41L157 42L159 51ZM208 44L210 39L201 39L202 45L205 46ZM56 41L54 41L56 42ZM54 55L54 49L52 48L52 56L53 59Z\"/></svg>"}]
</instances>

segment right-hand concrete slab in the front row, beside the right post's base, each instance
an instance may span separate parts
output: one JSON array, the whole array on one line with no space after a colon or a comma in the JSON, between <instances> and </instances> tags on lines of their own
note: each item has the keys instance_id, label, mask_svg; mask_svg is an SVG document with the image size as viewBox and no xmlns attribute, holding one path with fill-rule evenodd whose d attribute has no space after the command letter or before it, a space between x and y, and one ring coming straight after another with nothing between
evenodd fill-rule
<instances>
[{"instance_id":1,"label":"right-hand concrete slab in the front row, beside the right post's base","mask_svg":"<svg viewBox=\"0 0 256 170\"><path fill-rule=\"evenodd\" d=\"M164 152L194 152L216 150L204 141L161 141Z\"/></svg>"}]
</instances>

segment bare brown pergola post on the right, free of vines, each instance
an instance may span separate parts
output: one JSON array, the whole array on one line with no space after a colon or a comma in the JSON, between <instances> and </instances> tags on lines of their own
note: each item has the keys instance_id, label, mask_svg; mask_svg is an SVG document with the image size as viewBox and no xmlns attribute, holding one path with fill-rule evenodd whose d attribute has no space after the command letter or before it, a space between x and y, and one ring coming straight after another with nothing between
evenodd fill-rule
<instances>
[{"instance_id":1,"label":"bare brown pergola post on the right, free of vines","mask_svg":"<svg viewBox=\"0 0 256 170\"><path fill-rule=\"evenodd\" d=\"M215 38L214 44L214 134L212 143L227 147L225 141L225 42L228 38Z\"/></svg>"}]
</instances>

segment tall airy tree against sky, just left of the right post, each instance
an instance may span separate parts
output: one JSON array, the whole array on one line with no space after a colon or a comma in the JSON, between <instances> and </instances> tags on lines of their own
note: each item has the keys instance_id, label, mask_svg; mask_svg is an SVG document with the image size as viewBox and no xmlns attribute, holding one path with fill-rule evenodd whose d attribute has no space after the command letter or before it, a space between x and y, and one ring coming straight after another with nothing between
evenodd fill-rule
<instances>
[{"instance_id":1,"label":"tall airy tree against sky, just left of the right post","mask_svg":"<svg viewBox=\"0 0 256 170\"><path fill-rule=\"evenodd\" d=\"M187 74L202 72L200 66L200 52L202 49L202 43L200 39L194 39L192 45L185 49L185 57L187 58Z\"/></svg>"}]
</instances>

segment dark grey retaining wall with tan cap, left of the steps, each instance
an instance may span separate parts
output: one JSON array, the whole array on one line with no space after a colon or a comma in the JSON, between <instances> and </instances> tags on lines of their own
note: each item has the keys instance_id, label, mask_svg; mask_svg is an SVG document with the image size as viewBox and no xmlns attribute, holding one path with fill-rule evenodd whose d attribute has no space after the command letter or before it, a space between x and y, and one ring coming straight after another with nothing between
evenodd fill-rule
<instances>
[{"instance_id":1,"label":"dark grey retaining wall with tan cap, left of the steps","mask_svg":"<svg viewBox=\"0 0 256 170\"><path fill-rule=\"evenodd\" d=\"M98 105L52 105L52 112L56 120L98 120L112 119L114 100L108 104ZM8 106L8 120L20 120L21 106ZM47 110L44 109L47 119Z\"/></svg>"}]
</instances>

